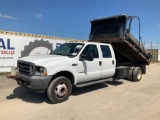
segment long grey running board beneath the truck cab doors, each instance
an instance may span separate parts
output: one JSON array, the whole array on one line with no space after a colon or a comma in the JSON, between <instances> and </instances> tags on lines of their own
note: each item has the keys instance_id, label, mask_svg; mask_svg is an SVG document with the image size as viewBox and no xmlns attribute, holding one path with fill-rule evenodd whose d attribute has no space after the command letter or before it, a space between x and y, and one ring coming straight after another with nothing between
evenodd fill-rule
<instances>
[{"instance_id":1,"label":"long grey running board beneath the truck cab doors","mask_svg":"<svg viewBox=\"0 0 160 120\"><path fill-rule=\"evenodd\" d=\"M108 82L108 81L113 81L113 78L107 78L107 79L96 80L96 81L91 81L91 82L87 82L87 83L81 83L81 84L77 84L75 86L76 87L85 87L85 86L94 85L94 84L98 84L98 83L104 83L104 82Z\"/></svg>"}]
</instances>

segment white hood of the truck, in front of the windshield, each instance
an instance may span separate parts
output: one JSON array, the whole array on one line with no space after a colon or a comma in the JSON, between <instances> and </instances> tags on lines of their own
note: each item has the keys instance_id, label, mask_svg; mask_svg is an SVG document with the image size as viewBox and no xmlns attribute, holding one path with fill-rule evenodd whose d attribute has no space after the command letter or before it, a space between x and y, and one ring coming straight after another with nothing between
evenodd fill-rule
<instances>
[{"instance_id":1,"label":"white hood of the truck, in front of the windshield","mask_svg":"<svg viewBox=\"0 0 160 120\"><path fill-rule=\"evenodd\" d=\"M34 63L35 65L39 66L45 66L45 64L53 62L61 62L61 61L66 61L69 60L70 58L68 56L61 56L61 55L34 55L34 56L27 56L20 58L19 60L26 61L26 62L31 62Z\"/></svg>"}]
</instances>

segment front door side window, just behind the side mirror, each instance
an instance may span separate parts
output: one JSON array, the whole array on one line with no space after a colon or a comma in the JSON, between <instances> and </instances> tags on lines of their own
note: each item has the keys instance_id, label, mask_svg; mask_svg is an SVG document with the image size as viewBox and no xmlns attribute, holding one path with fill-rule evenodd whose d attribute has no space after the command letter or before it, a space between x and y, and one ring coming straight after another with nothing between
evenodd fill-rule
<instances>
[{"instance_id":1,"label":"front door side window, just behind the side mirror","mask_svg":"<svg viewBox=\"0 0 160 120\"><path fill-rule=\"evenodd\" d=\"M86 55L87 53L91 52L93 54L94 58L99 58L99 54L98 54L98 49L96 45L87 45L83 52L82 55Z\"/></svg>"}]
</instances>

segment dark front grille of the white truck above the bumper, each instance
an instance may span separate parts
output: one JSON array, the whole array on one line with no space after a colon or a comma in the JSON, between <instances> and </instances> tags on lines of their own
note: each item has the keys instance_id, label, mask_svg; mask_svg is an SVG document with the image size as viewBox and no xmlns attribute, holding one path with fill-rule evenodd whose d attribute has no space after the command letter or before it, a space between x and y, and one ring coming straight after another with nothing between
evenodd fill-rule
<instances>
[{"instance_id":1,"label":"dark front grille of the white truck above the bumper","mask_svg":"<svg viewBox=\"0 0 160 120\"><path fill-rule=\"evenodd\" d=\"M17 67L19 69L19 73L23 75L33 75L34 73L34 64L18 60Z\"/></svg>"}]
</instances>

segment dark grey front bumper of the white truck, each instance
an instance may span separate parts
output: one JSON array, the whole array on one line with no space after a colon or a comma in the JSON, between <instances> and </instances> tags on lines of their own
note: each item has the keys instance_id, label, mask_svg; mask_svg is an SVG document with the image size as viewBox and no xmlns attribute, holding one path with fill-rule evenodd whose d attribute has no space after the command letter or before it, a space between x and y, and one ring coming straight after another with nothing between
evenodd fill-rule
<instances>
[{"instance_id":1,"label":"dark grey front bumper of the white truck","mask_svg":"<svg viewBox=\"0 0 160 120\"><path fill-rule=\"evenodd\" d=\"M18 75L17 84L25 86L32 90L45 90L49 86L52 76L25 76Z\"/></svg>"}]
</instances>

